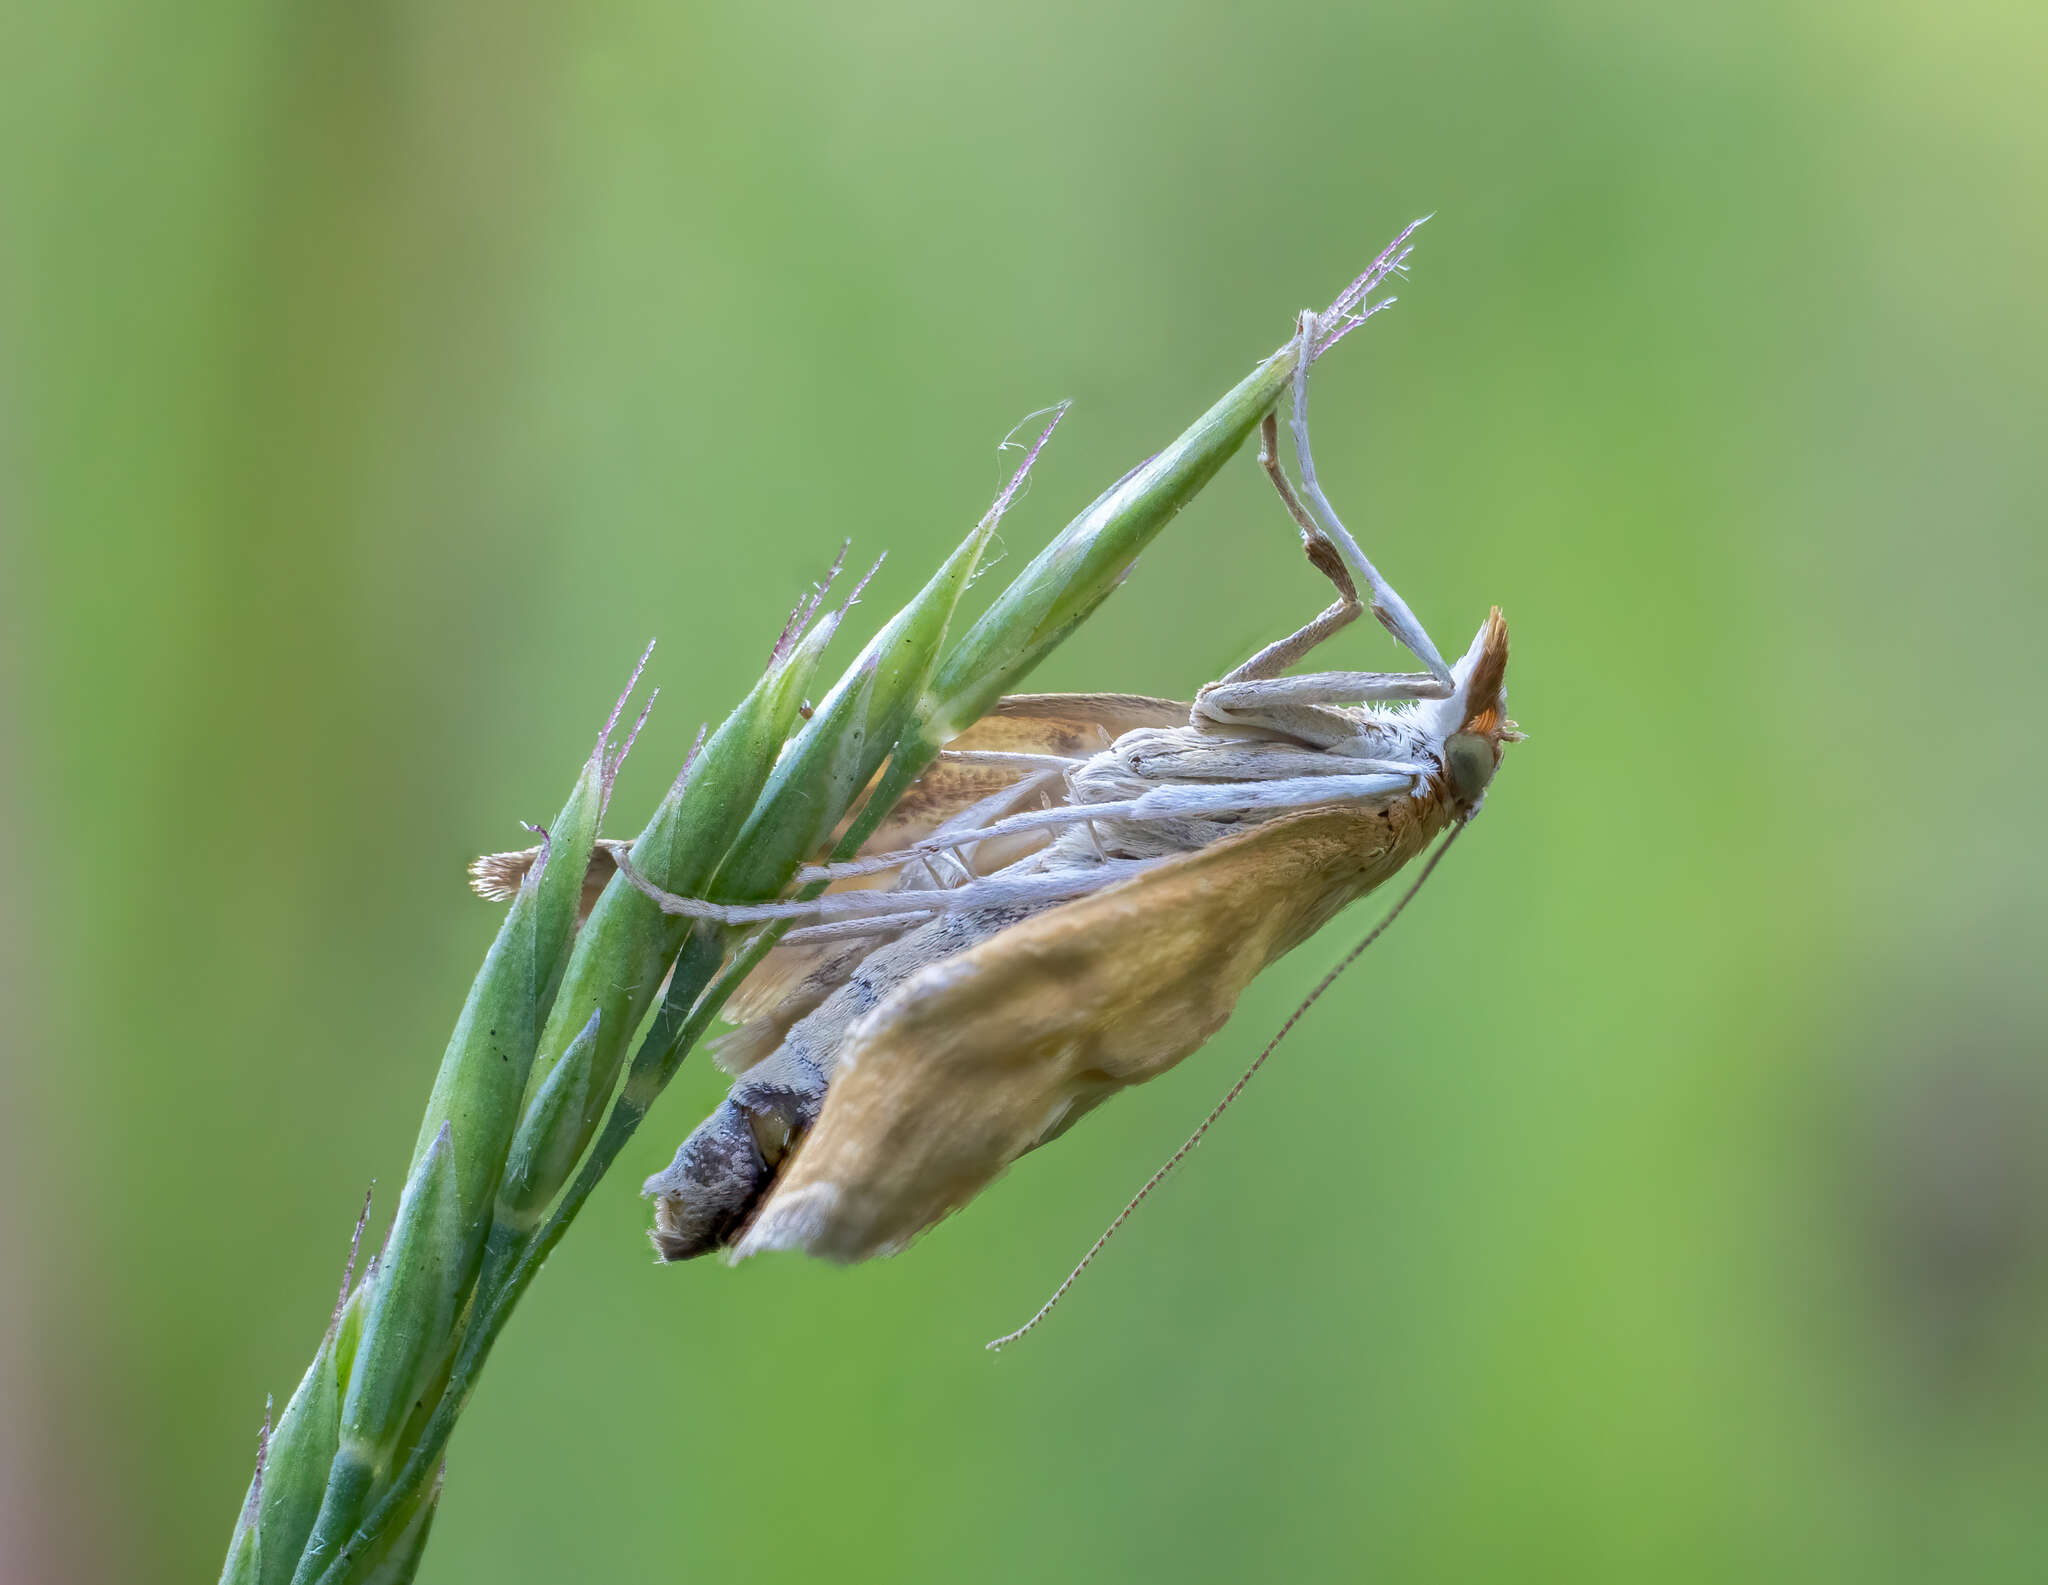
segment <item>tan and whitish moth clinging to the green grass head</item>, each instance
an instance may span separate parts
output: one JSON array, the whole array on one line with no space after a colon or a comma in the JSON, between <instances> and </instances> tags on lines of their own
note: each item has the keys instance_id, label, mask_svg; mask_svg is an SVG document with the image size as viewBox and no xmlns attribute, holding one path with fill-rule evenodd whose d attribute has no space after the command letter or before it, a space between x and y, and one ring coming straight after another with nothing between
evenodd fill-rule
<instances>
[{"instance_id":1,"label":"tan and whitish moth clinging to the green grass head","mask_svg":"<svg viewBox=\"0 0 2048 1585\"><path fill-rule=\"evenodd\" d=\"M1298 489L1276 414L1260 430L1333 590L1313 620L1192 702L1004 698L858 858L799 872L831 883L811 901L676 897L608 860L670 913L801 926L727 1008L729 1096L645 1184L664 1259L901 1249L1202 1046L1262 969L1479 813L1520 737L1507 625L1495 606L1446 663L1343 528L1309 448L1315 330ZM1419 672L1294 672L1366 610Z\"/></svg>"}]
</instances>

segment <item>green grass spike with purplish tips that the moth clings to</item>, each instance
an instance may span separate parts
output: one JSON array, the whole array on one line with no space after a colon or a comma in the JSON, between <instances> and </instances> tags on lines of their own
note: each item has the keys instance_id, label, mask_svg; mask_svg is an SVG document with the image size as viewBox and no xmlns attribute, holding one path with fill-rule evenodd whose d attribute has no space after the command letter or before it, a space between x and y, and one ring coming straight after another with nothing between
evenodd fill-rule
<instances>
[{"instance_id":1,"label":"green grass spike with purplish tips that the moth clings to","mask_svg":"<svg viewBox=\"0 0 2048 1585\"><path fill-rule=\"evenodd\" d=\"M1399 272L1401 248L1321 315L1317 354L1372 311L1366 295ZM266 1417L223 1581L397 1585L418 1569L449 1436L494 1341L678 1063L780 934L758 932L727 962L721 930L666 915L635 876L686 897L770 901L791 895L827 846L856 852L944 743L1085 620L1243 446L1286 393L1296 346L1102 491L954 637L963 594L987 569L1061 405L995 504L807 711L854 604L827 612L827 577L627 846L600 838L600 821L639 731L616 731L635 670L561 811L535 827L539 846L477 870L489 895L510 893L510 907L442 1053L385 1245L360 1282L344 1278L299 1388L274 1427Z\"/></svg>"}]
</instances>

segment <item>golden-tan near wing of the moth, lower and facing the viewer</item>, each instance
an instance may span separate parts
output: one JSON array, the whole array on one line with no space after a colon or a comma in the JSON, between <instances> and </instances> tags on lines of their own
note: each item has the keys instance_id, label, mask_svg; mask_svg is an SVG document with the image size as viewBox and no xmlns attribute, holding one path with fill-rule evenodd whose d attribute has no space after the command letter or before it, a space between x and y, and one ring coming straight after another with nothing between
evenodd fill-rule
<instances>
[{"instance_id":1,"label":"golden-tan near wing of the moth, lower and facing the viewer","mask_svg":"<svg viewBox=\"0 0 2048 1585\"><path fill-rule=\"evenodd\" d=\"M1438 799L1290 815L922 971L852 1030L817 1126L735 1255L899 1249L1024 1151L1196 1051L1253 975L1444 819Z\"/></svg>"}]
</instances>

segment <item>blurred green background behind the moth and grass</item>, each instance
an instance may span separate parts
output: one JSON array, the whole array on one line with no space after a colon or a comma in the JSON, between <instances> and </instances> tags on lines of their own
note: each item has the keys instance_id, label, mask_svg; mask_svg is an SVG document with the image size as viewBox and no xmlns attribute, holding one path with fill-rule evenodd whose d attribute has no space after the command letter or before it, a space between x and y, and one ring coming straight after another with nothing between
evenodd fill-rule
<instances>
[{"instance_id":1,"label":"blurred green background behind the moth and grass","mask_svg":"<svg viewBox=\"0 0 2048 1585\"><path fill-rule=\"evenodd\" d=\"M913 1253L539 1282L424 1577L2048 1575L2040 6L14 4L12 1579L211 1579L365 1184L647 637L635 825L801 584L1077 408L1012 565L1409 217L1325 481L1487 819ZM1321 598L1249 459L1036 678ZM1391 657L1376 633L1352 663Z\"/></svg>"}]
</instances>

